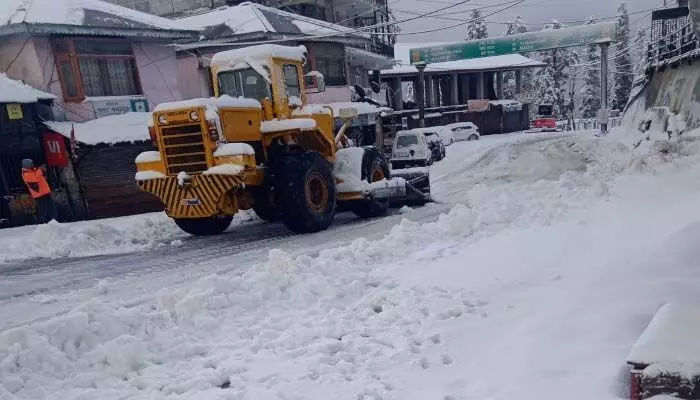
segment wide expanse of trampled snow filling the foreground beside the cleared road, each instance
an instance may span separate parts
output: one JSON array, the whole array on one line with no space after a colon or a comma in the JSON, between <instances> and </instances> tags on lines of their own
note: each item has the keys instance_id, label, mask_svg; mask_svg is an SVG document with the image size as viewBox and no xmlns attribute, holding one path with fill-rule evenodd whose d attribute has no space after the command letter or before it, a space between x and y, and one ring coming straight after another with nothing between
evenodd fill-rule
<instances>
[{"instance_id":1,"label":"wide expanse of trampled snow filling the foreground beside the cleared road","mask_svg":"<svg viewBox=\"0 0 700 400\"><path fill-rule=\"evenodd\" d=\"M633 136L456 143L432 171L454 204L435 221L1 303L81 304L0 333L0 398L622 396L651 316L700 293L700 141Z\"/></svg>"}]
</instances>

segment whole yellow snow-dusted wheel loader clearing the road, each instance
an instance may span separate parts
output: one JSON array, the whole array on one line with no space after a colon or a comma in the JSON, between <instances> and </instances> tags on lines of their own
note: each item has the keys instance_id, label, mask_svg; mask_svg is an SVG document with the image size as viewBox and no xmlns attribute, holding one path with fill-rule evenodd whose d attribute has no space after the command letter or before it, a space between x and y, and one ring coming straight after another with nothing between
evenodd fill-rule
<instances>
[{"instance_id":1,"label":"whole yellow snow-dusted wheel loader clearing the road","mask_svg":"<svg viewBox=\"0 0 700 400\"><path fill-rule=\"evenodd\" d=\"M149 133L158 151L136 158L136 181L181 229L220 234L235 213L252 208L308 233L328 228L340 209L372 218L394 201L429 199L427 176L412 177L422 182L418 190L392 179L374 146L351 146L345 131L355 109L307 105L307 93L325 84L317 72L304 74L306 56L303 46L278 45L217 53L215 97L154 109ZM345 122L337 133L334 116Z\"/></svg>"}]
</instances>

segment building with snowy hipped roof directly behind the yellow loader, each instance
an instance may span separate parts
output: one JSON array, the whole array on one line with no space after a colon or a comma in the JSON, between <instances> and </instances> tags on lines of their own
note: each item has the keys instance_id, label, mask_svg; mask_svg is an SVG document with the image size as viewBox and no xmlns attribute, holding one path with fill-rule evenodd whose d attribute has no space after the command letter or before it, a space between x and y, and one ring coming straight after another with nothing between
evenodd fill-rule
<instances>
[{"instance_id":1,"label":"building with snowy hipped roof directly behind the yellow loader","mask_svg":"<svg viewBox=\"0 0 700 400\"><path fill-rule=\"evenodd\" d=\"M180 88L188 98L212 94L209 60L215 53L260 42L306 46L307 72L318 71L326 81L325 92L309 95L311 103L350 101L353 85L368 87L370 71L394 64L377 51L370 34L256 3L224 6L176 23L202 30L200 40L177 46Z\"/></svg>"}]
</instances>

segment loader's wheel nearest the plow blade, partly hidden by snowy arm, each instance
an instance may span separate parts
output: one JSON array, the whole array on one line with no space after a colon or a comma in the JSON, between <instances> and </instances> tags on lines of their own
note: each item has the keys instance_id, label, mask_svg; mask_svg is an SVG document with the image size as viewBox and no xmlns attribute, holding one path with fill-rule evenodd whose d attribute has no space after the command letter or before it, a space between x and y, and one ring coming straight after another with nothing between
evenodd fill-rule
<instances>
[{"instance_id":1,"label":"loader's wheel nearest the plow blade, partly hidden by snowy arm","mask_svg":"<svg viewBox=\"0 0 700 400\"><path fill-rule=\"evenodd\" d=\"M364 148L362 155L362 180L368 183L390 179L389 163L374 146ZM351 211L360 218L377 218L389 210L389 199L365 199L352 203Z\"/></svg>"}]
</instances>

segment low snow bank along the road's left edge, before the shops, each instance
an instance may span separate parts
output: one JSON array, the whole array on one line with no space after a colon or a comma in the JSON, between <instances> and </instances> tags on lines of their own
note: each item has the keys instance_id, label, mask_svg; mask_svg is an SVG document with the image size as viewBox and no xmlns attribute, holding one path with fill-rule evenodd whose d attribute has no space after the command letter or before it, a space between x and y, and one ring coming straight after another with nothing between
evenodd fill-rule
<instances>
[{"instance_id":1,"label":"low snow bank along the road's left edge, before the shops","mask_svg":"<svg viewBox=\"0 0 700 400\"><path fill-rule=\"evenodd\" d=\"M65 224L54 221L28 229L15 236L10 235L14 229L3 230L0 263L143 251L186 236L161 213Z\"/></svg>"}]
</instances>

